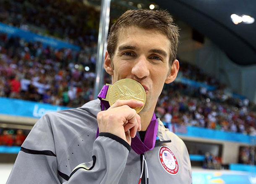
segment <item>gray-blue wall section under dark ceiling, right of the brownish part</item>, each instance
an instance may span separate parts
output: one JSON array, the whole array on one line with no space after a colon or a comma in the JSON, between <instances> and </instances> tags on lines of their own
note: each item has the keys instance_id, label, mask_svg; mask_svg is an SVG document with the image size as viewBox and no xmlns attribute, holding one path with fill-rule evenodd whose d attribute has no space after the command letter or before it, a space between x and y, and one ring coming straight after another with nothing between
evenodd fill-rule
<instances>
[{"instance_id":1,"label":"gray-blue wall section under dark ceiling, right of the brownish part","mask_svg":"<svg viewBox=\"0 0 256 184\"><path fill-rule=\"evenodd\" d=\"M239 66L210 41L197 50L195 62L205 72L227 84L233 92L256 102L256 64Z\"/></svg>"}]
</instances>

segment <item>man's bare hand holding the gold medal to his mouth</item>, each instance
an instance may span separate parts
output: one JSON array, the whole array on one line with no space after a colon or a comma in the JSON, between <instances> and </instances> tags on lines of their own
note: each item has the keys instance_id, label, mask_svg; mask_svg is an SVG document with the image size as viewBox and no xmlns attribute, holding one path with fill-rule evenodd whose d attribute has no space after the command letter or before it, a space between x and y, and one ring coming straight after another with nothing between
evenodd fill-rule
<instances>
[{"instance_id":1,"label":"man's bare hand holding the gold medal to his mouth","mask_svg":"<svg viewBox=\"0 0 256 184\"><path fill-rule=\"evenodd\" d=\"M117 135L131 145L137 130L141 130L141 117L131 107L141 107L137 100L117 100L108 110L97 114L99 133Z\"/></svg>"}]
</instances>

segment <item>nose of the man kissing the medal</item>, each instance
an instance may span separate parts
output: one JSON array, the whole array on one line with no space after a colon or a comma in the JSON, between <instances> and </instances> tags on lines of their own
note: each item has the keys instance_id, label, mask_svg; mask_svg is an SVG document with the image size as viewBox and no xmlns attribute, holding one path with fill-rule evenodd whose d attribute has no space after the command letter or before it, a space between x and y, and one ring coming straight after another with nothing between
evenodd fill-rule
<instances>
[{"instance_id":1,"label":"nose of the man kissing the medal","mask_svg":"<svg viewBox=\"0 0 256 184\"><path fill-rule=\"evenodd\" d=\"M131 70L131 73L139 79L149 76L149 63L145 56L138 58Z\"/></svg>"}]
</instances>

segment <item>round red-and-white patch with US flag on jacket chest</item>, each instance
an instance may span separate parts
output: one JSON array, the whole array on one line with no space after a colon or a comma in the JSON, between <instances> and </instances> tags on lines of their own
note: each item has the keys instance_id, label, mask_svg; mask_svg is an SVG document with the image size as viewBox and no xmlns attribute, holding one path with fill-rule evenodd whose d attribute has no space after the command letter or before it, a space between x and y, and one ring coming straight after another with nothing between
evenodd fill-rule
<instances>
[{"instance_id":1,"label":"round red-and-white patch with US flag on jacket chest","mask_svg":"<svg viewBox=\"0 0 256 184\"><path fill-rule=\"evenodd\" d=\"M168 174L176 175L179 171L178 161L170 148L162 146L159 149L159 161Z\"/></svg>"}]
</instances>

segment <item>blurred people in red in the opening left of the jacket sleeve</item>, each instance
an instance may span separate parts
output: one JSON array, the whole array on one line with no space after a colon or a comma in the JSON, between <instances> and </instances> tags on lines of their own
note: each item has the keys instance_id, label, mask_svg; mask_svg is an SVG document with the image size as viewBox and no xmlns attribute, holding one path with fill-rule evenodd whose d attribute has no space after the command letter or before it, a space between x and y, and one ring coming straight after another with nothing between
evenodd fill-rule
<instances>
[{"instance_id":1,"label":"blurred people in red in the opening left of the jacket sleeve","mask_svg":"<svg viewBox=\"0 0 256 184\"><path fill-rule=\"evenodd\" d=\"M26 135L23 130L2 130L0 129L1 146L21 146L25 141Z\"/></svg>"}]
</instances>

